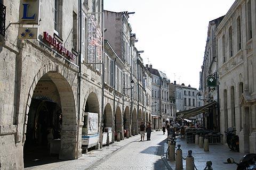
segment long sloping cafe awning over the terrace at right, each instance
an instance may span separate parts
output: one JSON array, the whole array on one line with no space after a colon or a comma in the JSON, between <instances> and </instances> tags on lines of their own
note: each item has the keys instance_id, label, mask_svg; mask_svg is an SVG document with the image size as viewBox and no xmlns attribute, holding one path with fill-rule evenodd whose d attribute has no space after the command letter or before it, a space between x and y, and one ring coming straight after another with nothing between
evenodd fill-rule
<instances>
[{"instance_id":1,"label":"long sloping cafe awning over the terrace at right","mask_svg":"<svg viewBox=\"0 0 256 170\"><path fill-rule=\"evenodd\" d=\"M177 112L176 115L181 118L190 118L198 114L205 113L210 107L213 107L216 105L217 105L217 101L212 101L211 103L201 107L196 107L193 109L189 109L187 111Z\"/></svg>"}]
</instances>

